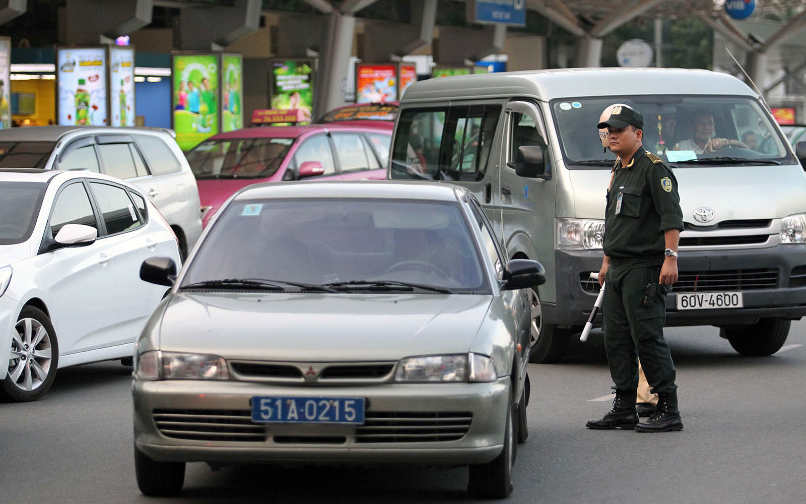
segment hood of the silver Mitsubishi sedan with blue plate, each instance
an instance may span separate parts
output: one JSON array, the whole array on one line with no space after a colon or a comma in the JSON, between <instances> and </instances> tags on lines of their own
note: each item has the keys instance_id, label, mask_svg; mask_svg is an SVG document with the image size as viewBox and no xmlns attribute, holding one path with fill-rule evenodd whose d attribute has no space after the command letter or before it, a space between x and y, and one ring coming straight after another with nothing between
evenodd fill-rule
<instances>
[{"instance_id":1,"label":"hood of the silver Mitsubishi sedan with blue plate","mask_svg":"<svg viewBox=\"0 0 806 504\"><path fill-rule=\"evenodd\" d=\"M468 352L492 296L178 293L159 348L228 359L399 360Z\"/></svg>"}]
</instances>

